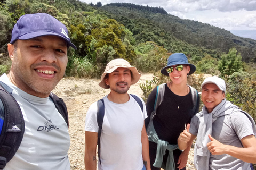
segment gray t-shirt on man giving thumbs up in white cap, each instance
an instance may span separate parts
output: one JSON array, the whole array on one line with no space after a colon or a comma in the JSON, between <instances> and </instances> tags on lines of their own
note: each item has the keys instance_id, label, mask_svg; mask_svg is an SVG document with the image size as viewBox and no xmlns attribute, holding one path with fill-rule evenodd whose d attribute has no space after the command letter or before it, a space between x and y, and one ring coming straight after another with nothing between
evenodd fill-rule
<instances>
[{"instance_id":1,"label":"gray t-shirt on man giving thumbs up in white cap","mask_svg":"<svg viewBox=\"0 0 256 170\"><path fill-rule=\"evenodd\" d=\"M199 118L194 116L191 120L189 132L197 135L199 128ZM218 117L212 124L212 137L219 142L243 147L241 139L254 135L252 123L242 112L235 112L229 115ZM239 139L238 139L239 137ZM210 154L209 169L251 169L250 164L228 154L212 155Z\"/></svg>"}]
</instances>

